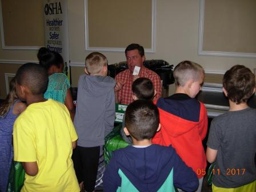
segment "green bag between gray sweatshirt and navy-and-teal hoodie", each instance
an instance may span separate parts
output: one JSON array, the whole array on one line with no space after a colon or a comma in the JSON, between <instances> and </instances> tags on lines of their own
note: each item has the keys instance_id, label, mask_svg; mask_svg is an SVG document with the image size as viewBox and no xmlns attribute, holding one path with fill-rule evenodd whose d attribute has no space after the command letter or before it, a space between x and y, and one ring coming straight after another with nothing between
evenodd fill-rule
<instances>
[{"instance_id":1,"label":"green bag between gray sweatshirt and navy-and-teal hoodie","mask_svg":"<svg viewBox=\"0 0 256 192\"><path fill-rule=\"evenodd\" d=\"M122 129L122 124L119 124L114 127L114 129L105 137L105 146L104 146L104 158L106 165L109 163L110 158L112 157L112 151L125 148L129 144L123 141L123 138L120 134Z\"/></svg>"}]
</instances>

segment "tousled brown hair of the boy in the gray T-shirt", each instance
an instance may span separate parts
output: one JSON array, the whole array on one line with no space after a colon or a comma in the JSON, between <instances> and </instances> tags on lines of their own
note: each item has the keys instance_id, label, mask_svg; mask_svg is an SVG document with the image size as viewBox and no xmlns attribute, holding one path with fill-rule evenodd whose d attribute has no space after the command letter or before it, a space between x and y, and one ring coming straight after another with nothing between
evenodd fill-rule
<instances>
[{"instance_id":1,"label":"tousled brown hair of the boy in the gray T-shirt","mask_svg":"<svg viewBox=\"0 0 256 192\"><path fill-rule=\"evenodd\" d=\"M255 75L243 65L235 65L227 70L223 77L223 87L227 97L239 104L247 102L255 88Z\"/></svg>"}]
</instances>

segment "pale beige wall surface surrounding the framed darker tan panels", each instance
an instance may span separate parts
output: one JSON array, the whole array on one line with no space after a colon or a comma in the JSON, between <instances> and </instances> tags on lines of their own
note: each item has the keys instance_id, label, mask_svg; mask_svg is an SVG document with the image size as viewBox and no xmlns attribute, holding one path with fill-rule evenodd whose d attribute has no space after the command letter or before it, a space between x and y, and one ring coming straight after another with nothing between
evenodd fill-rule
<instances>
[{"instance_id":1,"label":"pale beige wall surface surrounding the framed darker tan panels","mask_svg":"<svg viewBox=\"0 0 256 192\"><path fill-rule=\"evenodd\" d=\"M85 50L85 17L84 1L68 1L69 9L69 50L71 64L83 67L84 59L90 51ZM143 25L143 23L142 23ZM219 57L198 55L199 36L199 0L157 0L155 18L155 53L146 53L147 59L164 59L170 64L177 65L180 61L190 59L200 63L206 71L226 71L231 66L241 64L251 70L256 67L256 58ZM114 29L113 29L114 30ZM0 61L19 60L37 61L36 50L2 50L0 49ZM125 60L124 53L102 52L109 63L117 63ZM3 73L11 73L13 64L1 67L1 95L4 98L5 82ZM9 67L10 66L10 69ZM72 83L77 86L78 75L83 73L82 67L71 67Z\"/></svg>"}]
</instances>

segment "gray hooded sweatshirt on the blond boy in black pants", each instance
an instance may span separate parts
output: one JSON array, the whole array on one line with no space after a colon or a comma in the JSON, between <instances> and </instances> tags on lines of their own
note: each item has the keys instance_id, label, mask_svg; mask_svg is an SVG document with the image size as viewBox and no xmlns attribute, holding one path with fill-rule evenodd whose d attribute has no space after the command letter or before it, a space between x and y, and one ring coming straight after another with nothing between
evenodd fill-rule
<instances>
[{"instance_id":1,"label":"gray hooded sweatshirt on the blond boy in black pants","mask_svg":"<svg viewBox=\"0 0 256 192\"><path fill-rule=\"evenodd\" d=\"M104 145L105 135L109 134L114 127L114 86L115 81L109 76L83 74L79 77L74 119L78 146Z\"/></svg>"}]
</instances>

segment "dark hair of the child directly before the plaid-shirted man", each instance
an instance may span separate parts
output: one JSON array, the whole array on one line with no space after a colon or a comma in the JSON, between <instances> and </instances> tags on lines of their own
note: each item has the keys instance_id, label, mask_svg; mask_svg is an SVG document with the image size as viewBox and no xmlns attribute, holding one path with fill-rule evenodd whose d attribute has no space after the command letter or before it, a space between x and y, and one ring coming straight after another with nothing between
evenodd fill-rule
<instances>
[{"instance_id":1,"label":"dark hair of the child directly before the plaid-shirted man","mask_svg":"<svg viewBox=\"0 0 256 192\"><path fill-rule=\"evenodd\" d=\"M154 98L154 93L155 93L154 85L152 81L148 78L140 77L136 79L133 82L131 89L133 90L133 94L138 99L152 101Z\"/></svg>"}]
</instances>

